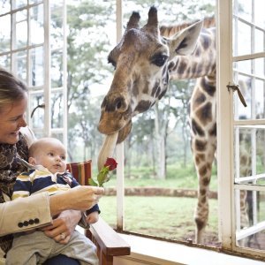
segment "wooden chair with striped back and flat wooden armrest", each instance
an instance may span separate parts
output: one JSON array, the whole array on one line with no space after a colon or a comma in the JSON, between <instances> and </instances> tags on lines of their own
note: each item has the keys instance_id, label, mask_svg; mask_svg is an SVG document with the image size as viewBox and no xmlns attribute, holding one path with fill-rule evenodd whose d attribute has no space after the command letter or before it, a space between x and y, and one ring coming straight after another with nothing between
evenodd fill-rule
<instances>
[{"instance_id":1,"label":"wooden chair with striped back and flat wooden armrest","mask_svg":"<svg viewBox=\"0 0 265 265\"><path fill-rule=\"evenodd\" d=\"M67 169L72 172L80 185L88 185L88 179L91 178L91 166L92 161L88 160L83 163L68 163ZM101 217L85 233L97 247L101 265L112 265L115 256L131 253L131 247Z\"/></svg>"}]
</instances>

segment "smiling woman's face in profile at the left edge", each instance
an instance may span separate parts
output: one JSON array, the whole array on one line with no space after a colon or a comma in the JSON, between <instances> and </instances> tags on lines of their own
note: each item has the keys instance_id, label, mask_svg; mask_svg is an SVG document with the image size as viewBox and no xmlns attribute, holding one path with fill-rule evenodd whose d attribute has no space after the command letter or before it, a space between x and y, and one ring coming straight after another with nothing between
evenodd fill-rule
<instances>
[{"instance_id":1,"label":"smiling woman's face in profile at the left edge","mask_svg":"<svg viewBox=\"0 0 265 265\"><path fill-rule=\"evenodd\" d=\"M15 144L19 140L19 129L27 125L25 112L27 110L27 95L25 98L1 106L0 109L0 143Z\"/></svg>"}]
</instances>

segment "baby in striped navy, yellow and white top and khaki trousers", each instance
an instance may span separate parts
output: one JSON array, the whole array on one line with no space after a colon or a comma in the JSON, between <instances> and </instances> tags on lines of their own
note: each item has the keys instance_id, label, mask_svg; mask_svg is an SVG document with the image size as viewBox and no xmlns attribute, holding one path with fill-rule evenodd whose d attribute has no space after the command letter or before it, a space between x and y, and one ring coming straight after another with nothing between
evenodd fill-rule
<instances>
[{"instance_id":1,"label":"baby in striped navy, yellow and white top and khaki trousers","mask_svg":"<svg viewBox=\"0 0 265 265\"><path fill-rule=\"evenodd\" d=\"M66 170L66 150L57 139L42 138L34 141L29 148L27 166L29 170L16 180L12 200L42 192L53 195L79 186ZM87 223L97 222L98 216L99 208L95 205L87 211ZM65 235L62 233L61 240L64 239ZM76 259L80 264L98 264L95 245L78 231L73 231L66 245L49 239L42 231L15 235L6 264L42 263L57 254Z\"/></svg>"}]
</instances>

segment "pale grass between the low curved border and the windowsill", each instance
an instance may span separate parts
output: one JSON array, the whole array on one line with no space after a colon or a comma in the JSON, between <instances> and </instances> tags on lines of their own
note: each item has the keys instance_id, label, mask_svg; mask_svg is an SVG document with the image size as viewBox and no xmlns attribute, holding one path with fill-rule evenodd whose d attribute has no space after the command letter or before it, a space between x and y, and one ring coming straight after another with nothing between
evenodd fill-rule
<instances>
[{"instance_id":1,"label":"pale grass between the low curved border and the windowsill","mask_svg":"<svg viewBox=\"0 0 265 265\"><path fill-rule=\"evenodd\" d=\"M194 239L193 209L196 199L177 197L125 197L125 231L164 239ZM206 228L207 245L217 241L217 201L211 200ZM103 196L101 216L115 228L116 197Z\"/></svg>"}]
</instances>

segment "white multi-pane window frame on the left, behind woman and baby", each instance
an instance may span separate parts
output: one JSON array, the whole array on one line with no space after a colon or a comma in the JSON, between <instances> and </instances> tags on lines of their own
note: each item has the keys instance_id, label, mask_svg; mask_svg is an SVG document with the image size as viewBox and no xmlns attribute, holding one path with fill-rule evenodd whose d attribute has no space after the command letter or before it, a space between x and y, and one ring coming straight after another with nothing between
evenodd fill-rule
<instances>
[{"instance_id":1,"label":"white multi-pane window frame on the left, behind woman and baby","mask_svg":"<svg viewBox=\"0 0 265 265\"><path fill-rule=\"evenodd\" d=\"M17 51L19 50L25 50L27 51L27 87L29 88L29 102L31 100L31 96L35 94L42 94L43 93L43 99L45 102L45 108L44 108L44 125L42 128L38 128L34 130L34 133L42 133L43 136L52 136L53 134L62 134L63 142L65 148L67 148L67 62L66 62L66 47L67 47L67 40L66 40L66 4L65 0L62 0L61 3L63 4L63 30L64 30L64 40L63 41L63 86L62 87L57 87L51 89L51 75L50 75L50 66L51 66L51 49L50 49L50 0L40 0L37 3L34 4L29 4L29 1L27 1L27 4L19 7L19 8L12 8L16 4L16 0L11 1L11 11L7 12L6 14L3 14L1 16L7 15L7 14L14 14L16 11L23 11L27 10L27 30L28 30L28 38L27 38L27 45L21 49L13 49L13 43L16 37L16 25L15 21L13 21L11 17L11 49L7 52L2 53L8 54L11 57L11 62L10 62L10 70L12 73L17 74L18 70L15 67L15 57L14 55L16 54ZM37 45L32 45L29 44L29 39L30 39L30 34L31 34L31 28L30 28L30 17L29 17L29 9L37 6L37 5L42 5L43 6L43 27L44 27L44 42L37 44ZM30 86L30 79L31 79L31 49L35 47L43 47L43 63L44 63L44 76L43 76L43 86L42 87L31 87ZM64 114L63 114L63 126L61 128L51 128L51 93L57 91L57 92L62 92L63 93L63 100L64 100ZM34 106L36 107L36 106ZM27 109L27 124L29 127L33 128L33 123L32 123L32 118L30 117L32 113L33 108L31 107L30 103L28 103L28 109Z\"/></svg>"}]
</instances>

